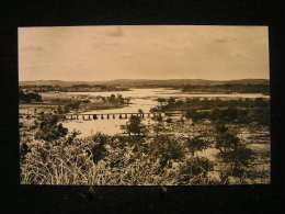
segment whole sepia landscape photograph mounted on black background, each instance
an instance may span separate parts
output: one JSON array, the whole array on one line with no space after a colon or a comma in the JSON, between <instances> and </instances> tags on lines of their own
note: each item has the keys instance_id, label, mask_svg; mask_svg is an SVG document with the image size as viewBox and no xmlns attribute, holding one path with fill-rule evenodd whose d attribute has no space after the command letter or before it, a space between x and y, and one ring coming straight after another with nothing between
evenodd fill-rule
<instances>
[{"instance_id":1,"label":"whole sepia landscape photograph mounted on black background","mask_svg":"<svg viewBox=\"0 0 285 214\"><path fill-rule=\"evenodd\" d=\"M271 183L269 27L18 29L21 184Z\"/></svg>"}]
</instances>

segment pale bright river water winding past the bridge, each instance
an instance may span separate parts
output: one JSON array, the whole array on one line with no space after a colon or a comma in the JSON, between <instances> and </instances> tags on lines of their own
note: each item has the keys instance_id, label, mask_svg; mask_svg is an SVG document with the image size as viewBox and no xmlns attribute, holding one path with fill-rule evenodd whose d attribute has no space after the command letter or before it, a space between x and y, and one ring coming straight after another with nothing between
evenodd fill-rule
<instances>
[{"instance_id":1,"label":"pale bright river water winding past the bridge","mask_svg":"<svg viewBox=\"0 0 285 214\"><path fill-rule=\"evenodd\" d=\"M141 109L144 112L149 112L149 110L158 104L158 98L269 98L269 95L263 95L261 93L235 93L235 94L215 94L215 93L203 93L203 94L190 94L182 93L180 90L171 89L133 89L130 91L119 91L119 92L68 92L68 94L87 94L87 95L103 95L110 97L111 94L122 94L125 98L130 98L130 104L122 109L113 110L95 110L86 112L87 114L99 114L99 113L135 113L138 112L138 109ZM119 120L118 116L116 120L92 120L92 121L66 121L62 124L68 127L69 131L77 129L82 134L81 137L89 136L96 132L102 132L105 134L116 134L122 133L119 128L121 125L125 125L127 120ZM144 120L144 123L149 123L148 119Z\"/></svg>"}]
</instances>

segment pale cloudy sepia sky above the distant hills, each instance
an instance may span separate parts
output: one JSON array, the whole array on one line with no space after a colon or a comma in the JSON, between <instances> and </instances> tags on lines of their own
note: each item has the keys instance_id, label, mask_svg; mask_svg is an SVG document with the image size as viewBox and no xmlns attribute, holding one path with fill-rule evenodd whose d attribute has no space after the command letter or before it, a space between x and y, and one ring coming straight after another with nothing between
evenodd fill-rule
<instances>
[{"instance_id":1,"label":"pale cloudy sepia sky above the distant hills","mask_svg":"<svg viewBox=\"0 0 285 214\"><path fill-rule=\"evenodd\" d=\"M267 26L19 27L19 80L269 79Z\"/></svg>"}]
</instances>

